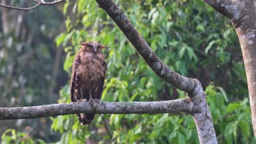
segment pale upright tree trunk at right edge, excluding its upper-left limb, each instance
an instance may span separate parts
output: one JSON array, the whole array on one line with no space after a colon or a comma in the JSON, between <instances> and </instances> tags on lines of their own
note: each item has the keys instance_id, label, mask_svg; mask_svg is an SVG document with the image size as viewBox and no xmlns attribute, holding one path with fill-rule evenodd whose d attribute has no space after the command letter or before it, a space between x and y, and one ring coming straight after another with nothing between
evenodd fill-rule
<instances>
[{"instance_id":1,"label":"pale upright tree trunk at right edge, excluding its upper-left limb","mask_svg":"<svg viewBox=\"0 0 256 144\"><path fill-rule=\"evenodd\" d=\"M256 7L246 2L240 20L233 20L245 62L254 136L256 137Z\"/></svg>"}]
</instances>

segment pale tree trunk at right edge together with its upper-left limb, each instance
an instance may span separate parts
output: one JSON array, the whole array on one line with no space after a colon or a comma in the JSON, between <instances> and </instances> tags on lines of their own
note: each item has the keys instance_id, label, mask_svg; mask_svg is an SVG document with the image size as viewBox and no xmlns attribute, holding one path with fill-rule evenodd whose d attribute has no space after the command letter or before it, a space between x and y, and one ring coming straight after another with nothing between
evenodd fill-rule
<instances>
[{"instance_id":1,"label":"pale tree trunk at right edge together with its upper-left limb","mask_svg":"<svg viewBox=\"0 0 256 144\"><path fill-rule=\"evenodd\" d=\"M254 136L256 137L256 2L255 0L204 0L228 17L238 35L249 91Z\"/></svg>"}]
</instances>

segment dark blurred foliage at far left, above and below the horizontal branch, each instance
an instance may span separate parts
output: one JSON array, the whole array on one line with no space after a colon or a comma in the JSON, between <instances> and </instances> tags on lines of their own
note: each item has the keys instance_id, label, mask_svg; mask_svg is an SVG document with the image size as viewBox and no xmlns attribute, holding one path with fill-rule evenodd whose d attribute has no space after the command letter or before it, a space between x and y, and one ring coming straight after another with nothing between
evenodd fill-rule
<instances>
[{"instance_id":1,"label":"dark blurred foliage at far left, above and below the horizontal branch","mask_svg":"<svg viewBox=\"0 0 256 144\"><path fill-rule=\"evenodd\" d=\"M10 1L10 4L15 4L13 2ZM24 6L31 3L16 2ZM3 10L7 13L2 13ZM51 13L56 15L50 15ZM61 52L61 48L56 49L55 42L51 40L60 33L60 23L63 21L62 11L56 7L39 7L26 12L1 8L0 15L1 107L56 103L59 87L67 81L67 74L62 70L62 66L57 70L54 68L57 52ZM4 21L8 26L2 25ZM8 31L3 32L4 28ZM62 57L64 59L64 56ZM62 63L61 54L58 63ZM59 77L54 76L55 71L59 71L57 74L63 82L58 80ZM54 83L58 86L57 88ZM40 119L2 121L0 135L9 128L24 130L26 125L30 125L35 131L33 135L38 136L42 133L45 137L50 137L49 123L49 118L44 122Z\"/></svg>"}]
</instances>

